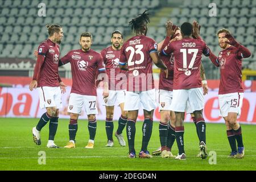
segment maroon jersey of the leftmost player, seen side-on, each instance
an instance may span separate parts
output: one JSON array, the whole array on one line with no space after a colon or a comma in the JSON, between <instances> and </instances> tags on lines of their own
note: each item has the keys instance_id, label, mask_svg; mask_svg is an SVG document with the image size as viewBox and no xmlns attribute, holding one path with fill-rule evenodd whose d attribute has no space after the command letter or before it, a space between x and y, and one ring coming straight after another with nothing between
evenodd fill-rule
<instances>
[{"instance_id":1,"label":"maroon jersey of the leftmost player, seen side-on","mask_svg":"<svg viewBox=\"0 0 256 182\"><path fill-rule=\"evenodd\" d=\"M40 86L59 86L58 67L60 59L59 45L50 39L42 42L38 47L38 55L46 57L38 74L38 87Z\"/></svg>"}]
</instances>

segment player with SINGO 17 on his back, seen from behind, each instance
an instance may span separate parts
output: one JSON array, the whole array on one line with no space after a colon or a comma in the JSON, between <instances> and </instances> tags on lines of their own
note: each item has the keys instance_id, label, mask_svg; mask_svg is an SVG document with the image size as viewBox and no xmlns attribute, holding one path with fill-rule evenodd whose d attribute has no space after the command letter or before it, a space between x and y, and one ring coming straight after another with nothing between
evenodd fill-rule
<instances>
[{"instance_id":1,"label":"player with SINGO 17 on his back, seen from behind","mask_svg":"<svg viewBox=\"0 0 256 182\"><path fill-rule=\"evenodd\" d=\"M174 59L174 90L173 100L170 109L175 111L176 115L176 142L179 148L179 154L175 159L185 159L184 151L184 111L187 101L191 105L191 110L195 114L196 127L199 131L200 151L203 154L202 159L207 157L205 142L205 122L203 118L204 97L201 88L200 65L201 57L204 54L209 56L210 50L205 42L199 38L193 39L193 30L199 29L198 23L185 22L181 25L181 34L183 39L176 40L162 48L163 55L171 55ZM193 34L194 35L194 34Z\"/></svg>"}]
</instances>

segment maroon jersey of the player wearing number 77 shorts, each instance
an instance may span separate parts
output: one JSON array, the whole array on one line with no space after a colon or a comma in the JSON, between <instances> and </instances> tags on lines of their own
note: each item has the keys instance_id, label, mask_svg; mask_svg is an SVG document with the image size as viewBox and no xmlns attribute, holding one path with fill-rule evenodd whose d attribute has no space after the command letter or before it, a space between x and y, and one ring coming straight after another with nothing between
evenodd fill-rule
<instances>
[{"instance_id":1,"label":"maroon jersey of the player wearing number 77 shorts","mask_svg":"<svg viewBox=\"0 0 256 182\"><path fill-rule=\"evenodd\" d=\"M88 52L77 49L68 52L60 60L63 64L71 63L71 93L97 96L95 73L97 70L100 73L105 72L105 65L100 53L92 49Z\"/></svg>"}]
</instances>

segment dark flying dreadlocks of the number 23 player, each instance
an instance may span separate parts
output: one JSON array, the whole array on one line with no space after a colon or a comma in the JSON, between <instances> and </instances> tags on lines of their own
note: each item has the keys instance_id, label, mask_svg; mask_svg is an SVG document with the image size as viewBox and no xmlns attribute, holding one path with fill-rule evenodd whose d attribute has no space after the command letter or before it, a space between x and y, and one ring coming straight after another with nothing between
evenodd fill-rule
<instances>
[{"instance_id":1,"label":"dark flying dreadlocks of the number 23 player","mask_svg":"<svg viewBox=\"0 0 256 182\"><path fill-rule=\"evenodd\" d=\"M142 14L138 14L137 18L130 20L129 22L129 27L131 27L131 31L138 31L142 26L143 23L149 23L150 19L148 17L148 15L150 15L149 13L147 13L148 10L145 10Z\"/></svg>"}]
</instances>

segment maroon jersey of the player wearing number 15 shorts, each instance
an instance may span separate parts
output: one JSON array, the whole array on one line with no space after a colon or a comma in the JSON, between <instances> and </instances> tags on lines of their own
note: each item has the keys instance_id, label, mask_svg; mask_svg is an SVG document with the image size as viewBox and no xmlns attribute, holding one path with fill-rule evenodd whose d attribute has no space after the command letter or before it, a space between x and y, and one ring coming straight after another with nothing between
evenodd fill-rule
<instances>
[{"instance_id":1,"label":"maroon jersey of the player wearing number 15 shorts","mask_svg":"<svg viewBox=\"0 0 256 182\"><path fill-rule=\"evenodd\" d=\"M218 94L243 92L242 54L236 47L229 47L218 54L220 64L220 89Z\"/></svg>"}]
</instances>

